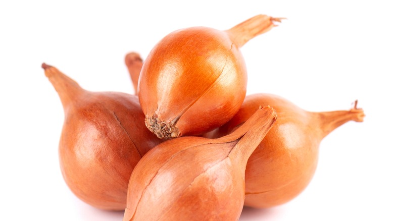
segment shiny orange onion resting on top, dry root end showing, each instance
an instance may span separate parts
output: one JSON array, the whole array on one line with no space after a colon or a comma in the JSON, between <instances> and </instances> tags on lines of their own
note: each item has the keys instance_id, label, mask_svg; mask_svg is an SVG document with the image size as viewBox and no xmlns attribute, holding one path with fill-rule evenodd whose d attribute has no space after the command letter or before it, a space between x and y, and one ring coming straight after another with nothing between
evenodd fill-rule
<instances>
[{"instance_id":1,"label":"shiny orange onion resting on top, dry root end showing","mask_svg":"<svg viewBox=\"0 0 394 221\"><path fill-rule=\"evenodd\" d=\"M240 47L280 21L258 15L225 31L191 27L165 36L140 72L146 127L159 138L173 138L201 135L230 120L247 87Z\"/></svg>"}]
</instances>

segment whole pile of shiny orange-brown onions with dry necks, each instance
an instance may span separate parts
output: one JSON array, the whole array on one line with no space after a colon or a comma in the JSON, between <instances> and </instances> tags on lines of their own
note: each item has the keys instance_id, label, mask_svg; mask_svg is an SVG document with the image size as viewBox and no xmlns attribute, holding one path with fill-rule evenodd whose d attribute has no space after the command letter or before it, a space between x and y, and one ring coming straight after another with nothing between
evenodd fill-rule
<instances>
[{"instance_id":1,"label":"whole pile of shiny orange-brown onions with dry necks","mask_svg":"<svg viewBox=\"0 0 394 221\"><path fill-rule=\"evenodd\" d=\"M349 111L308 112L273 94L245 97L240 48L280 18L228 30L191 27L162 38L145 61L125 57L135 95L91 92L42 64L65 113L60 166L71 191L126 220L238 220L304 190L321 140Z\"/></svg>"}]
</instances>

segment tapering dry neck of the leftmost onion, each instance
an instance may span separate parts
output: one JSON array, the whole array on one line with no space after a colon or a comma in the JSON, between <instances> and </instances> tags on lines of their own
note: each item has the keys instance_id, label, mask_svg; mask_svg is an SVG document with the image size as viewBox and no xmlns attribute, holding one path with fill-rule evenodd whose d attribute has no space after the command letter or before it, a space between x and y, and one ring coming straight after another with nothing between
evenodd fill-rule
<instances>
[{"instance_id":1,"label":"tapering dry neck of the leftmost onion","mask_svg":"<svg viewBox=\"0 0 394 221\"><path fill-rule=\"evenodd\" d=\"M76 98L85 91L77 82L60 72L57 68L46 65L45 63L41 67L44 69L45 76L58 92L65 109L71 103L75 102Z\"/></svg>"}]
</instances>

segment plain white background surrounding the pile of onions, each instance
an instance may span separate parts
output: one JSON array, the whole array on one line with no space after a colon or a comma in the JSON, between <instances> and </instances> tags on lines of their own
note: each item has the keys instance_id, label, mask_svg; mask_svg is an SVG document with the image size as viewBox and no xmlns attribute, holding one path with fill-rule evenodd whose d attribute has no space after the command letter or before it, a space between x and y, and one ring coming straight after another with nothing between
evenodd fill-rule
<instances>
[{"instance_id":1,"label":"plain white background surrounding the pile of onions","mask_svg":"<svg viewBox=\"0 0 394 221\"><path fill-rule=\"evenodd\" d=\"M309 111L349 109L320 145L308 188L240 220L394 220L393 7L390 1L8 1L0 3L0 220L122 220L90 207L63 181L63 107L41 63L92 91L133 88L124 56L146 58L176 29L220 30L257 14L286 17L245 44L248 94L269 92ZM109 1L107 1L109 2ZM6 218L7 217L7 218Z\"/></svg>"}]
</instances>

